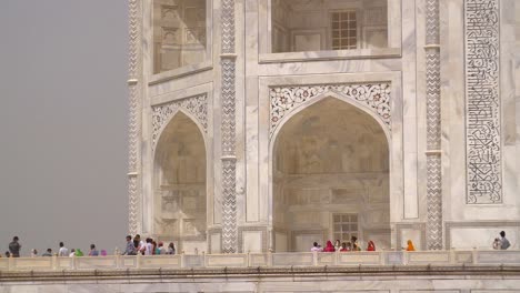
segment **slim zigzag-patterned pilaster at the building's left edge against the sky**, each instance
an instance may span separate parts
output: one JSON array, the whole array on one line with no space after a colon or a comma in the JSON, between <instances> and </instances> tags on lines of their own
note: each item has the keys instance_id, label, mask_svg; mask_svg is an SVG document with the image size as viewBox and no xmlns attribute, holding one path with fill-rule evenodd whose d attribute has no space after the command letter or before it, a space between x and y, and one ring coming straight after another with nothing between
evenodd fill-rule
<instances>
[{"instance_id":1,"label":"slim zigzag-patterned pilaster at the building's left edge against the sky","mask_svg":"<svg viewBox=\"0 0 520 293\"><path fill-rule=\"evenodd\" d=\"M140 0L129 0L129 148L128 148L128 230L130 234L139 230L139 133L140 133L140 90L139 90L139 6Z\"/></svg>"}]
</instances>

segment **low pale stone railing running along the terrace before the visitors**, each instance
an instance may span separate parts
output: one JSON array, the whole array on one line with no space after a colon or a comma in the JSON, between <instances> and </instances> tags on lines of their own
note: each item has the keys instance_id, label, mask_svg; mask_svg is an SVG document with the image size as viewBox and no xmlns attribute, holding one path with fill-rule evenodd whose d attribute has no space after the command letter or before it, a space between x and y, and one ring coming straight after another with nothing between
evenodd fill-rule
<instances>
[{"instance_id":1,"label":"low pale stone railing running along the terrace before the visitors","mask_svg":"<svg viewBox=\"0 0 520 293\"><path fill-rule=\"evenodd\" d=\"M96 257L38 256L0 259L0 271L502 264L520 265L520 251L268 252Z\"/></svg>"}]
</instances>

